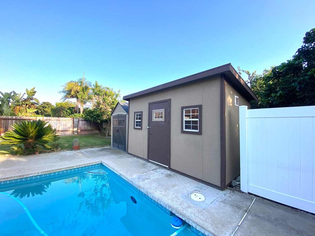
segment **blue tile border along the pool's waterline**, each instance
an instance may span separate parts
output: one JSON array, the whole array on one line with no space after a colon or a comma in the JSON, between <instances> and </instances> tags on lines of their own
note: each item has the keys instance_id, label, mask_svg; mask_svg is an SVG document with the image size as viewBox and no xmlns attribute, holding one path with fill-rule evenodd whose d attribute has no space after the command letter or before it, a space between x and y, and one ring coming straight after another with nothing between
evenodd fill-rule
<instances>
[{"instance_id":1,"label":"blue tile border along the pool's waterline","mask_svg":"<svg viewBox=\"0 0 315 236\"><path fill-rule=\"evenodd\" d=\"M24 181L28 181L28 180L34 180L34 179L40 179L43 177L51 177L51 176L55 176L55 175L59 175L59 174L66 174L66 173L71 173L71 172L75 172L75 171L81 171L81 170L86 170L86 169L90 169L90 168L95 168L95 167L103 167L106 169L106 171L112 173L113 175L115 175L116 177L118 177L120 180L122 180L124 183L128 184L131 188L133 188L135 191L137 191L139 194L141 194L143 197L145 197L146 199L148 199L151 203L153 203L154 205L156 205L158 208L160 208L162 211L164 211L166 214L168 214L169 216L174 215L171 211L169 211L168 209L166 209L163 205L159 204L157 201L155 201L154 199L152 199L150 196L148 196L147 194L143 193L140 189L138 189L137 187L135 187L132 183L129 183L127 180L125 180L123 177L121 177L119 174L117 174L116 172L112 171L109 167L105 166L102 163L99 164L95 164L95 165L89 165L89 166L82 166L82 167L77 167L77 168L73 168L73 169L68 169L68 170L63 170L63 171L56 171L56 172L52 172L52 173L47 173L47 174L42 174L42 175L35 175L35 176L30 176L30 177L24 177L24 178L19 178L19 179L12 179L12 180L5 180L5 181L0 181L0 186L2 185L7 185L7 184L11 184L11 183L22 183ZM202 232L200 232L199 230L197 230L196 228L194 228L193 226L191 226L191 232L198 235L198 236L206 236L205 234L203 234Z\"/></svg>"}]
</instances>

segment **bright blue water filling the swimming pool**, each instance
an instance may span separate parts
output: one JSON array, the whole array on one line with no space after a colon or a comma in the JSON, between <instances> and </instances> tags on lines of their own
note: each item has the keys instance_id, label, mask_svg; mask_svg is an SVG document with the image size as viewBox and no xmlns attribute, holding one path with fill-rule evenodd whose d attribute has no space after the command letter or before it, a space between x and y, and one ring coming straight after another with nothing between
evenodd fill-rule
<instances>
[{"instance_id":1,"label":"bright blue water filling the swimming pool","mask_svg":"<svg viewBox=\"0 0 315 236\"><path fill-rule=\"evenodd\" d=\"M49 236L169 236L176 231L170 212L103 166L3 184L0 191L25 204ZM0 194L0 206L0 235L41 235L14 199ZM196 234L189 226L179 235Z\"/></svg>"}]
</instances>

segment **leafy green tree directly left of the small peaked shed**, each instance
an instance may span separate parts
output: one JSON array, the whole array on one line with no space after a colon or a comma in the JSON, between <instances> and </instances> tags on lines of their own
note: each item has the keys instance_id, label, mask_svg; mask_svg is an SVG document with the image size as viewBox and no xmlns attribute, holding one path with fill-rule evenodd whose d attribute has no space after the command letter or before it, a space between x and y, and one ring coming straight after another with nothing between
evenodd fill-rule
<instances>
[{"instance_id":1,"label":"leafy green tree directly left of the small peaked shed","mask_svg":"<svg viewBox=\"0 0 315 236\"><path fill-rule=\"evenodd\" d=\"M103 122L107 121L106 137L108 136L108 129L111 122L111 113L119 97L120 90L116 92L112 88L103 87L95 81L92 87L92 109L84 115L84 119L97 122L102 132L104 132Z\"/></svg>"}]
</instances>

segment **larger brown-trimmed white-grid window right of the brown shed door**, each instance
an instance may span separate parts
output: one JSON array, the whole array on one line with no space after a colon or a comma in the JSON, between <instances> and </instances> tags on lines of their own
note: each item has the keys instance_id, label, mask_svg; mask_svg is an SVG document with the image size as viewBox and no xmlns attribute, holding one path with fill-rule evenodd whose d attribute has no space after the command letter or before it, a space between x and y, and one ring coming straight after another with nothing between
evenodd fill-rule
<instances>
[{"instance_id":1,"label":"larger brown-trimmed white-grid window right of the brown shed door","mask_svg":"<svg viewBox=\"0 0 315 236\"><path fill-rule=\"evenodd\" d=\"M181 132L201 135L201 118L202 105L181 107Z\"/></svg>"}]
</instances>

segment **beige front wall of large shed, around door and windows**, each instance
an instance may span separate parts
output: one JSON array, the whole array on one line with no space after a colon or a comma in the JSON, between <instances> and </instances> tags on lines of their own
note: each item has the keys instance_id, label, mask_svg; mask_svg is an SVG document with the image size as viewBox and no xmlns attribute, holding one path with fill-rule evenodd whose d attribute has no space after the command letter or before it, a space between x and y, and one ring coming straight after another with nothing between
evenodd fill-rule
<instances>
[{"instance_id":1,"label":"beige front wall of large shed, around door and windows","mask_svg":"<svg viewBox=\"0 0 315 236\"><path fill-rule=\"evenodd\" d=\"M128 152L147 159L148 103L169 98L170 168L220 186L220 76L130 98ZM202 135L181 133L181 107L199 104ZM135 111L143 111L142 130L133 128Z\"/></svg>"}]
</instances>

